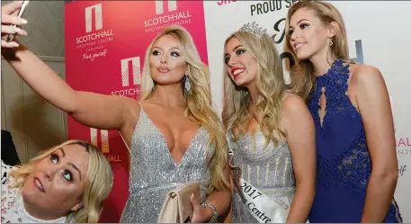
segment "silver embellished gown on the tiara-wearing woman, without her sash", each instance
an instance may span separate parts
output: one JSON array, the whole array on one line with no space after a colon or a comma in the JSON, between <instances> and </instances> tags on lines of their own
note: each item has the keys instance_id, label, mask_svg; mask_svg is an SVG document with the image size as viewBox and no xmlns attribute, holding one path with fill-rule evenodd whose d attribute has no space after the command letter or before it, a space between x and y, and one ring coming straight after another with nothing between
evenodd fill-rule
<instances>
[{"instance_id":1,"label":"silver embellished gown on the tiara-wearing woman, without her sash","mask_svg":"<svg viewBox=\"0 0 411 224\"><path fill-rule=\"evenodd\" d=\"M228 137L232 137L231 134ZM269 197L286 196L289 199L286 203L290 206L295 194L295 179L289 146L287 142L280 141L278 147L270 142L264 148L264 143L261 131L256 131L254 137L247 134L237 142L229 140L234 164L241 168L241 177L246 182ZM237 190L233 193L231 221L258 223L246 209Z\"/></svg>"}]
</instances>

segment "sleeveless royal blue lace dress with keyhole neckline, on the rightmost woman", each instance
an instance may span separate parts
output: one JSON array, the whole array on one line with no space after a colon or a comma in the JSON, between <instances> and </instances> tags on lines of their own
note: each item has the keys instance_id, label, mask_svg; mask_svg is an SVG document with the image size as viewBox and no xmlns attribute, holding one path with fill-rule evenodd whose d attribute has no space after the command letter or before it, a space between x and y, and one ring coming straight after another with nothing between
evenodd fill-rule
<instances>
[{"instance_id":1,"label":"sleeveless royal blue lace dress with keyhole neckline, on the rightmost woman","mask_svg":"<svg viewBox=\"0 0 411 224\"><path fill-rule=\"evenodd\" d=\"M348 95L349 66L335 60L311 95L311 112L317 139L317 193L309 215L310 222L360 222L367 185L371 176L371 157L367 148L362 117ZM323 89L326 114L319 117ZM401 222L393 199L385 222Z\"/></svg>"}]
</instances>

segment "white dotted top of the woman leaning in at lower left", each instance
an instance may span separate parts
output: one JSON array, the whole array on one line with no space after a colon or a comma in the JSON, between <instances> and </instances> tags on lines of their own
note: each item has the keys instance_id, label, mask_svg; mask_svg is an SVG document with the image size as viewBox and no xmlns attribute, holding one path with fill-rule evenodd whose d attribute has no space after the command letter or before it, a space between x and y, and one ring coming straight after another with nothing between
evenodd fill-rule
<instances>
[{"instance_id":1,"label":"white dotted top of the woman leaning in at lower left","mask_svg":"<svg viewBox=\"0 0 411 224\"><path fill-rule=\"evenodd\" d=\"M1 223L64 223L67 217L57 220L40 220L32 217L24 208L22 194L14 187L16 182L9 174L15 166L8 166L2 160L2 212Z\"/></svg>"}]
</instances>

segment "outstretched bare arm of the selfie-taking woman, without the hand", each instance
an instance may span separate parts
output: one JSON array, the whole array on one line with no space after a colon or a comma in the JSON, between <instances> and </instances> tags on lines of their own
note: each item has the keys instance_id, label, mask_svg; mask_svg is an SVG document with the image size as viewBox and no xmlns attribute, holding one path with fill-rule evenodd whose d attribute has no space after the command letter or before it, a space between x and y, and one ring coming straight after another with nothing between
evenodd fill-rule
<instances>
[{"instance_id":1,"label":"outstretched bare arm of the selfie-taking woman, without the hand","mask_svg":"<svg viewBox=\"0 0 411 224\"><path fill-rule=\"evenodd\" d=\"M137 103L124 96L75 91L29 49L4 49L2 55L37 94L88 127L121 130Z\"/></svg>"}]
</instances>

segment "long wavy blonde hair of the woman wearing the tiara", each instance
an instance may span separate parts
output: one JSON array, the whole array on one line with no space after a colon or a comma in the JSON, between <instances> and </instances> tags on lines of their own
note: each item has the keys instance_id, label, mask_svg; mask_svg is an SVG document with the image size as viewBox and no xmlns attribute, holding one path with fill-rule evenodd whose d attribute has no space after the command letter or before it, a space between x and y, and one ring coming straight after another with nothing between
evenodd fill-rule
<instances>
[{"instance_id":1,"label":"long wavy blonde hair of the woman wearing the tiara","mask_svg":"<svg viewBox=\"0 0 411 224\"><path fill-rule=\"evenodd\" d=\"M253 116L258 121L260 130L266 139L266 144L273 141L274 145L279 144L278 137L284 137L284 133L279 128L281 119L281 94L285 90L284 76L282 73L281 58L275 48L273 40L264 35L261 38L247 31L236 31L225 42L237 38L246 51L257 61L257 76L255 88L257 91L257 101ZM222 112L223 123L231 130L233 139L238 140L246 135L251 114L248 107L251 103L251 96L246 87L237 86L229 78L224 76L225 100ZM275 136L276 132L279 136Z\"/></svg>"}]
</instances>

